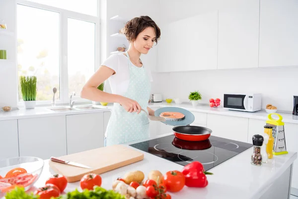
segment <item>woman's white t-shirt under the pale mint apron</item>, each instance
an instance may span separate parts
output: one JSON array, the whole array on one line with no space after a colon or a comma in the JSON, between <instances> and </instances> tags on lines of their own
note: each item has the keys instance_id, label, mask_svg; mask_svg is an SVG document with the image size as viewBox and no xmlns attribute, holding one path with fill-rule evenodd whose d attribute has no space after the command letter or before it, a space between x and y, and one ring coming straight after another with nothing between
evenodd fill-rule
<instances>
[{"instance_id":1,"label":"woman's white t-shirt under the pale mint apron","mask_svg":"<svg viewBox=\"0 0 298 199\"><path fill-rule=\"evenodd\" d=\"M120 53L120 54L112 54L110 57L108 57L101 65L109 67L113 69L116 74L112 75L109 78L109 83L111 86L111 90L113 94L121 95L123 96L129 86L129 66L128 66L128 58L126 55ZM130 60L130 64L132 67L135 66ZM143 66L148 74L150 82L152 82L152 76L151 71L148 66L146 66L143 63Z\"/></svg>"}]
</instances>

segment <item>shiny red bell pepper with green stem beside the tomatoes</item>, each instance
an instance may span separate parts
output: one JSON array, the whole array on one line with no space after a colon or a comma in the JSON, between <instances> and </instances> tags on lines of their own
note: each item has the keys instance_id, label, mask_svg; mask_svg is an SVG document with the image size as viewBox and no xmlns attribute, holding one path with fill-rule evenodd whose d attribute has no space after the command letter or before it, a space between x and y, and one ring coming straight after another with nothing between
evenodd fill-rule
<instances>
[{"instance_id":1,"label":"shiny red bell pepper with green stem beside the tomatoes","mask_svg":"<svg viewBox=\"0 0 298 199\"><path fill-rule=\"evenodd\" d=\"M186 165L182 173L187 187L206 187L208 185L206 175L213 175L213 173L205 172L203 165L198 161Z\"/></svg>"}]
</instances>

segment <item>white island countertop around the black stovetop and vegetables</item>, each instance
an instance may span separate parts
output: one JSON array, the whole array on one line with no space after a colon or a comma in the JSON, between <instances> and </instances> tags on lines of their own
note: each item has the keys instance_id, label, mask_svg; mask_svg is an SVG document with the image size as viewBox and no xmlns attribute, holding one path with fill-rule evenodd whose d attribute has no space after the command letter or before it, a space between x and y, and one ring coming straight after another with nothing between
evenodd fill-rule
<instances>
[{"instance_id":1,"label":"white island countertop around the black stovetop and vegetables","mask_svg":"<svg viewBox=\"0 0 298 199\"><path fill-rule=\"evenodd\" d=\"M158 137L169 134L171 133ZM140 140L137 142L140 142ZM145 173L147 178L151 170L159 170L162 174L165 174L167 171L181 171L183 168L179 164L146 152L143 153L145 153L145 158L140 162L100 174L102 187L108 190L112 189L112 182L129 171L140 170ZM286 155L274 156L273 159L268 160L268 163L258 167L250 164L251 154L252 148L249 148L209 170L214 175L207 176L209 185L205 188L184 187L178 193L169 194L172 199L198 199L198 196L200 199L257 199L297 158L297 152L289 152ZM54 173L49 168L48 160L46 160L42 175L36 182L35 187L44 186L45 181L51 174ZM73 191L75 188L81 191L79 182L69 183L65 191Z\"/></svg>"}]
</instances>

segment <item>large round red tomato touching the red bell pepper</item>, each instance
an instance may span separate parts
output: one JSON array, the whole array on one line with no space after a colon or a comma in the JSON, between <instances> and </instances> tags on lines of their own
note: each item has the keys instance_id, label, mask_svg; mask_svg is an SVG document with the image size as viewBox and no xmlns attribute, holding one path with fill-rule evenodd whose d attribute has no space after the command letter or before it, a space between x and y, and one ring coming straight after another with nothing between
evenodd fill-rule
<instances>
[{"instance_id":1,"label":"large round red tomato touching the red bell pepper","mask_svg":"<svg viewBox=\"0 0 298 199\"><path fill-rule=\"evenodd\" d=\"M185 176L177 170L168 171L163 176L163 184L169 192L179 192L185 185Z\"/></svg>"}]
</instances>

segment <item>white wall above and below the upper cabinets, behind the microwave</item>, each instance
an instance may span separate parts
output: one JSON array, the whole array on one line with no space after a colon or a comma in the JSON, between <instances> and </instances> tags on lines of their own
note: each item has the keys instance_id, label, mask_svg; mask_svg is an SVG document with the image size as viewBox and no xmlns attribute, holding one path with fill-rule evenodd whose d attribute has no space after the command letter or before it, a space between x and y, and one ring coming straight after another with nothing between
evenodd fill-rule
<instances>
[{"instance_id":1,"label":"white wall above and below the upper cabinets, behind the microwave","mask_svg":"<svg viewBox=\"0 0 298 199\"><path fill-rule=\"evenodd\" d=\"M234 4L236 1L224 2L225 4L219 0L161 0L161 39L162 25L218 9L231 2ZM177 39L183 39L183 36ZM175 41L168 47L174 48ZM298 89L295 88L298 83L297 74L297 67L160 73L153 75L151 93L162 93L164 99L170 97L189 101L189 92L198 90L202 94L202 103L208 103L210 98L223 99L224 93L262 93L262 108L267 103L272 103L279 110L292 111L293 95L298 95Z\"/></svg>"}]
</instances>

